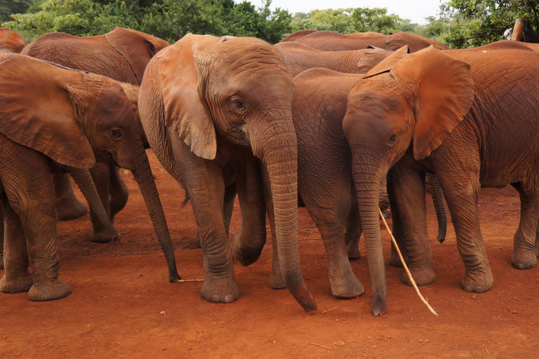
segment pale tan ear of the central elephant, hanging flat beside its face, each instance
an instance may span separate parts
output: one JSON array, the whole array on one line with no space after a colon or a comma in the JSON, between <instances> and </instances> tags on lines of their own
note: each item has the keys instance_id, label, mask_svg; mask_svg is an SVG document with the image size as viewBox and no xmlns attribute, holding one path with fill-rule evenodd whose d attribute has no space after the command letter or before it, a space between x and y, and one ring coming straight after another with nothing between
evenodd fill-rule
<instances>
[{"instance_id":1,"label":"pale tan ear of the central elephant, hanging flat beside its face","mask_svg":"<svg viewBox=\"0 0 539 359\"><path fill-rule=\"evenodd\" d=\"M210 35L187 34L157 55L163 88L165 124L180 135L191 151L213 160L217 154L215 127L206 100L201 57L219 41ZM206 69L207 70L207 69Z\"/></svg>"}]
</instances>

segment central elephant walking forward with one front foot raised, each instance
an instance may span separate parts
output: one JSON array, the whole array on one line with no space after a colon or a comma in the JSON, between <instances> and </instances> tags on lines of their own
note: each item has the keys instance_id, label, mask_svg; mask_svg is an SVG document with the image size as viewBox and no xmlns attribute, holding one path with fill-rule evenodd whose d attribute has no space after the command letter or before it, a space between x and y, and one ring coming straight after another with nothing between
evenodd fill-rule
<instances>
[{"instance_id":1,"label":"central elephant walking forward with one front foot raised","mask_svg":"<svg viewBox=\"0 0 539 359\"><path fill-rule=\"evenodd\" d=\"M294 91L279 51L248 37L187 34L147 66L139 93L142 126L161 165L191 200L204 256L201 296L208 302L239 297L233 252L248 265L262 251L262 166L274 196L282 278L305 311L317 308L298 256ZM232 251L227 228L236 191L241 229Z\"/></svg>"}]
</instances>

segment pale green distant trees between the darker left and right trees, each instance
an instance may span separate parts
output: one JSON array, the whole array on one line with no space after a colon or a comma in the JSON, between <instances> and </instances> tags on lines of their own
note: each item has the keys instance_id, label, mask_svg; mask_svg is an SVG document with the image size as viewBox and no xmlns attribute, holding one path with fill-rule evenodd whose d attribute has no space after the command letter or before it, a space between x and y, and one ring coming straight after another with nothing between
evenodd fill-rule
<instances>
[{"instance_id":1,"label":"pale green distant trees between the darker left and right trees","mask_svg":"<svg viewBox=\"0 0 539 359\"><path fill-rule=\"evenodd\" d=\"M310 13L295 13L293 31L301 29L331 30L342 34L352 32L412 31L414 25L394 14L387 8L338 8L313 10Z\"/></svg>"}]
</instances>

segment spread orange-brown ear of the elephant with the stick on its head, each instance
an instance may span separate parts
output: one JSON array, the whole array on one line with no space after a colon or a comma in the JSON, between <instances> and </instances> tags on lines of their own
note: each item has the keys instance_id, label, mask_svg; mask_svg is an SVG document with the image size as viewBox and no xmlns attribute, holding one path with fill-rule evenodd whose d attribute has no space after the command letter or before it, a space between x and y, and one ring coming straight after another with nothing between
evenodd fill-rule
<instances>
[{"instance_id":1,"label":"spread orange-brown ear of the elephant with the stick on its head","mask_svg":"<svg viewBox=\"0 0 539 359\"><path fill-rule=\"evenodd\" d=\"M430 46L407 55L391 74L416 88L413 156L421 160L444 142L472 108L470 64Z\"/></svg>"}]
</instances>

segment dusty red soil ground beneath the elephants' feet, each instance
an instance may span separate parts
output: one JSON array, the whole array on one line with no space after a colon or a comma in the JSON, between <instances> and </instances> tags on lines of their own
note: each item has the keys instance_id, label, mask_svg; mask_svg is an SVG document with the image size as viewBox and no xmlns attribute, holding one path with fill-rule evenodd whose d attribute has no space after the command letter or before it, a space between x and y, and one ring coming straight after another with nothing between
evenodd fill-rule
<instances>
[{"instance_id":1,"label":"dusty red soil ground beneath the elephants' feet","mask_svg":"<svg viewBox=\"0 0 539 359\"><path fill-rule=\"evenodd\" d=\"M152 158L157 187L184 279L202 278L201 250L184 192ZM211 304L200 282L168 283L165 260L131 174L127 207L117 215L121 241L89 241L88 215L58 224L62 280L72 294L34 303L26 293L0 294L0 358L517 358L539 356L539 269L510 264L518 226L514 189L481 191L481 228L495 284L484 294L460 289L464 273L450 225L444 244L430 205L429 224L437 280L422 293L400 283L403 269L387 265L384 316L371 315L371 283L364 257L352 263L366 292L356 299L331 296L319 233L300 209L300 256L319 310L306 314L286 290L268 285L271 246L249 267L234 264L241 297ZM235 208L231 233L239 228ZM390 242L382 231L386 259ZM362 252L364 251L361 243ZM0 271L1 273L1 271ZM332 311L328 311L333 309ZM324 311L328 311L323 313Z\"/></svg>"}]
</instances>

